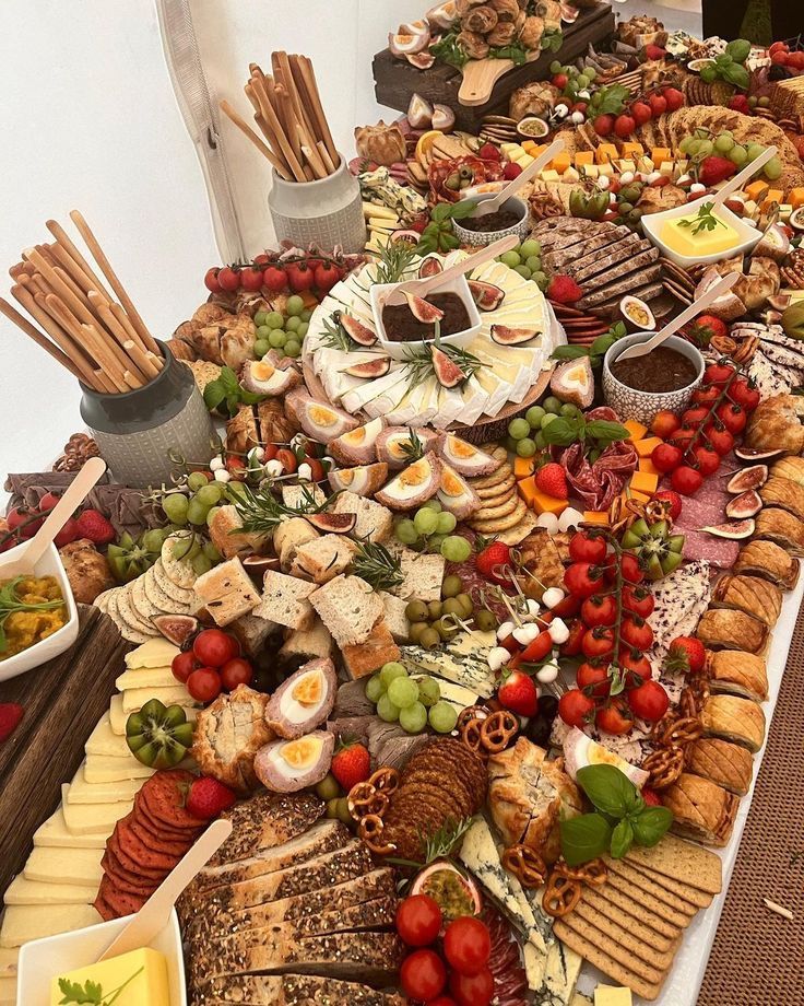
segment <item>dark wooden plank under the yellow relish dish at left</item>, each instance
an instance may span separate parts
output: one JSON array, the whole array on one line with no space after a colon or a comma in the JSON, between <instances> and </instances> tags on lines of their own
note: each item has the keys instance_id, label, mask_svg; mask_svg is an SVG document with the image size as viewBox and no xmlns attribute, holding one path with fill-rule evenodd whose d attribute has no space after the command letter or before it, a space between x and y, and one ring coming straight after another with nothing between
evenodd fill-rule
<instances>
[{"instance_id":1,"label":"dark wooden plank under the yellow relish dish at left","mask_svg":"<svg viewBox=\"0 0 804 1006\"><path fill-rule=\"evenodd\" d=\"M79 637L67 653L0 683L0 702L25 710L0 745L0 891L22 869L34 832L59 805L61 784L75 774L132 648L97 608L79 605Z\"/></svg>"}]
</instances>

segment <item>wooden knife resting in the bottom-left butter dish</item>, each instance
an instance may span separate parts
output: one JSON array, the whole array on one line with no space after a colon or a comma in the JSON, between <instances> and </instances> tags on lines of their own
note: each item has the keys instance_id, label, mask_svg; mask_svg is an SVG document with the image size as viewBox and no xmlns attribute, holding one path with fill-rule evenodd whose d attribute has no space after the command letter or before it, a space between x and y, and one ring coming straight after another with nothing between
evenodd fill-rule
<instances>
[{"instance_id":1,"label":"wooden knife resting in the bottom-left butter dish","mask_svg":"<svg viewBox=\"0 0 804 1006\"><path fill-rule=\"evenodd\" d=\"M179 894L230 834L232 821L213 821L192 849L179 859L134 917L111 940L98 961L146 947L167 925Z\"/></svg>"}]
</instances>

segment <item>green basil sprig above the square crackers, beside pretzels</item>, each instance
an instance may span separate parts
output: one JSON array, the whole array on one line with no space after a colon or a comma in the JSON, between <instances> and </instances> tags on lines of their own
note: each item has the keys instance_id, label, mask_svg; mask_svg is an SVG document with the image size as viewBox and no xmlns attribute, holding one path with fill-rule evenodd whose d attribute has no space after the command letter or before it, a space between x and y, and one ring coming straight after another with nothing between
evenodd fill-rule
<instances>
[{"instance_id":1,"label":"green basil sprig above the square crackers, beside pretzels","mask_svg":"<svg viewBox=\"0 0 804 1006\"><path fill-rule=\"evenodd\" d=\"M569 866L606 852L620 859L635 842L655 845L673 823L666 807L649 807L614 765L586 765L578 770L576 781L595 809L560 823L561 855Z\"/></svg>"}]
</instances>

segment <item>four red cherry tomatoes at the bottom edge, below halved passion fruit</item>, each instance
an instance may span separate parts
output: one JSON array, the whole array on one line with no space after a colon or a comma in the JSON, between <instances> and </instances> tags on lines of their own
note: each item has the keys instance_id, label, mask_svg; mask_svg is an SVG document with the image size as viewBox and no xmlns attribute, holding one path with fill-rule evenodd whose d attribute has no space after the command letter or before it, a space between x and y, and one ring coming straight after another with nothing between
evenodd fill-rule
<instances>
[{"instance_id":1,"label":"four red cherry tomatoes at the bottom edge, below halved passion fruit","mask_svg":"<svg viewBox=\"0 0 804 1006\"><path fill-rule=\"evenodd\" d=\"M427 1006L488 1006L494 998L488 926L474 915L461 915L447 925L437 943L442 925L441 909L428 894L413 894L400 902L397 932L409 947L416 948L402 962L402 991Z\"/></svg>"}]
</instances>

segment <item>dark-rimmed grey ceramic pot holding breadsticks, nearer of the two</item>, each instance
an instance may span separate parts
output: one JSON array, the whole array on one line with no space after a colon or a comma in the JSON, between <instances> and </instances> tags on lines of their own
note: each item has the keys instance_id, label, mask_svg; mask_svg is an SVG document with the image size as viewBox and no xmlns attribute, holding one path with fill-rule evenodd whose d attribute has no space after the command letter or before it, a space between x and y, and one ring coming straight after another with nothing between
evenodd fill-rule
<instances>
[{"instance_id":1,"label":"dark-rimmed grey ceramic pot holding breadsticks, nearer of the two","mask_svg":"<svg viewBox=\"0 0 804 1006\"><path fill-rule=\"evenodd\" d=\"M102 395L81 385L81 416L116 481L146 488L169 482L179 451L193 461L212 457L213 428L192 371L159 342L165 365L144 387Z\"/></svg>"}]
</instances>

